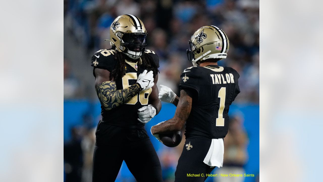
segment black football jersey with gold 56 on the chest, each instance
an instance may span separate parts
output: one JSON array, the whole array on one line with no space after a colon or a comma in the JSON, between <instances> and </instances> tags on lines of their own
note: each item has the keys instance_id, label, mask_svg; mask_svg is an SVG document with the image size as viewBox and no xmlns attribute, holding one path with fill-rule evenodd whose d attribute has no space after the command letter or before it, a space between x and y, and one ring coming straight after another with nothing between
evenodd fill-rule
<instances>
[{"instance_id":1,"label":"black football jersey with gold 56 on the chest","mask_svg":"<svg viewBox=\"0 0 323 182\"><path fill-rule=\"evenodd\" d=\"M159 67L159 58L154 51L146 50L145 53L151 55L154 63ZM91 66L100 69L106 69L110 73L116 65L116 60L114 59L116 52L114 50L99 50L97 51L91 59ZM116 80L117 89L126 89L129 86L137 82L139 74L141 74L146 68L139 66L141 64L141 58L138 59L137 63L133 63L127 60L126 57L126 75L122 77L121 80ZM139 68L139 70L138 70ZM93 75L95 76L93 69ZM109 111L105 110L101 106L101 116L102 121L107 124L120 126L120 127L131 127L138 126L142 127L144 124L139 122L138 119L138 109L148 105L148 97L151 94L152 88L142 90L135 97L132 97L127 103L122 104L119 107L113 108Z\"/></svg>"}]
</instances>

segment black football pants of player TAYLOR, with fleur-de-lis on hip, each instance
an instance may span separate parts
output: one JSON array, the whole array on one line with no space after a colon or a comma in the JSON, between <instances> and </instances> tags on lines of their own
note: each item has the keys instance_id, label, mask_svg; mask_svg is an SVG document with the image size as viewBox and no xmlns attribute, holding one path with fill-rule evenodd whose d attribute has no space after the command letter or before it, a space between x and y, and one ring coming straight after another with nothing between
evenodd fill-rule
<instances>
[{"instance_id":1,"label":"black football pants of player TAYLOR, with fleur-de-lis on hip","mask_svg":"<svg viewBox=\"0 0 323 182\"><path fill-rule=\"evenodd\" d=\"M178 159L175 171L175 182L203 182L206 174L210 174L215 167L203 163L203 160L211 146L211 139L188 138L185 141L182 154ZM192 147L186 146L186 144ZM189 150L187 150L189 148ZM199 176L187 176L194 174Z\"/></svg>"}]
</instances>

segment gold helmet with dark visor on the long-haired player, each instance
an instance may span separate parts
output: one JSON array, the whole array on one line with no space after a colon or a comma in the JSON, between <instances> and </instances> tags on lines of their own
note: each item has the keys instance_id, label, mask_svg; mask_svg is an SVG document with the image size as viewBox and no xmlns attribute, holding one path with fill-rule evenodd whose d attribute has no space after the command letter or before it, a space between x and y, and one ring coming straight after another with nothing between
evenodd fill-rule
<instances>
[{"instance_id":1,"label":"gold helmet with dark visor on the long-haired player","mask_svg":"<svg viewBox=\"0 0 323 182\"><path fill-rule=\"evenodd\" d=\"M146 40L146 28L134 15L121 15L111 24L111 46L132 59L138 59L143 55L147 46Z\"/></svg>"}]
</instances>

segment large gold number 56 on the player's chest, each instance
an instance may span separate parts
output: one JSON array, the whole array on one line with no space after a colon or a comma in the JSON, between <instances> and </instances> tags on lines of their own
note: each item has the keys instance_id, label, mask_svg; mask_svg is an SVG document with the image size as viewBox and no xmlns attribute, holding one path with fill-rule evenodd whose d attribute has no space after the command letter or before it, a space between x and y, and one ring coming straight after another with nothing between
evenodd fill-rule
<instances>
[{"instance_id":1,"label":"large gold number 56 on the player's chest","mask_svg":"<svg viewBox=\"0 0 323 182\"><path fill-rule=\"evenodd\" d=\"M129 80L137 80L137 73L126 73L126 75L124 75L122 77L122 86L123 89L126 89L128 87L130 87L131 85L129 85ZM136 104L138 102L141 103L141 105L147 105L148 104L148 97L151 94L152 89L148 88L146 90L142 90L139 94L137 94L137 96L132 97L126 104ZM146 95L146 97L145 97ZM139 97L139 98L138 98Z\"/></svg>"}]
</instances>

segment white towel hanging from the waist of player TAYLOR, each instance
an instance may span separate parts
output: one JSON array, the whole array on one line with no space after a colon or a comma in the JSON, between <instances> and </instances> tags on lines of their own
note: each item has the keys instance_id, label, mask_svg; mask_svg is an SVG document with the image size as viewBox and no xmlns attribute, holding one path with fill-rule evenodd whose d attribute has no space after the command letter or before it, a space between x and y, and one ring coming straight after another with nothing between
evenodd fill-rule
<instances>
[{"instance_id":1,"label":"white towel hanging from the waist of player TAYLOR","mask_svg":"<svg viewBox=\"0 0 323 182\"><path fill-rule=\"evenodd\" d=\"M203 162L209 166L222 167L223 154L224 154L223 139L222 138L212 139L209 152L207 152Z\"/></svg>"}]
</instances>

